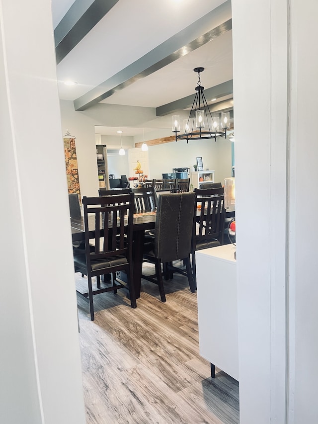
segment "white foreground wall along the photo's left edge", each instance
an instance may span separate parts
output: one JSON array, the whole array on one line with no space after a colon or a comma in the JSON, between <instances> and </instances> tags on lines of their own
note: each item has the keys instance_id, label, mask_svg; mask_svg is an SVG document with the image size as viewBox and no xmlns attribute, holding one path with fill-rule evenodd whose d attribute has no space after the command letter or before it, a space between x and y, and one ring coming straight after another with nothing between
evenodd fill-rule
<instances>
[{"instance_id":1,"label":"white foreground wall along the photo's left edge","mask_svg":"<svg viewBox=\"0 0 318 424\"><path fill-rule=\"evenodd\" d=\"M85 423L50 1L0 2L0 80L0 421Z\"/></svg>"}]
</instances>

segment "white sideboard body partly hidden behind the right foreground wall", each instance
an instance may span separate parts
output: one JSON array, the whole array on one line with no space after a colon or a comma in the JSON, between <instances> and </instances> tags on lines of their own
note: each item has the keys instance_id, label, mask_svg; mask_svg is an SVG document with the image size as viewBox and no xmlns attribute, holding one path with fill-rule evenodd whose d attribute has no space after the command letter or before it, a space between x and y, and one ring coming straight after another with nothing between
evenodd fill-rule
<instances>
[{"instance_id":1,"label":"white sideboard body partly hidden behind the right foreground wall","mask_svg":"<svg viewBox=\"0 0 318 424\"><path fill-rule=\"evenodd\" d=\"M233 245L195 253L200 355L239 380L238 300Z\"/></svg>"}]
</instances>

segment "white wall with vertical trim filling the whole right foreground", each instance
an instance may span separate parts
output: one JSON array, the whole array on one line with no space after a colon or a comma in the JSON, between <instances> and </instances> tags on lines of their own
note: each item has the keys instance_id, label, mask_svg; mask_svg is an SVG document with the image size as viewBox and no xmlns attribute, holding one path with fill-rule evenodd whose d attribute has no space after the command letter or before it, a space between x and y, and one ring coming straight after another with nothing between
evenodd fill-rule
<instances>
[{"instance_id":1,"label":"white wall with vertical trim filling the whole right foreground","mask_svg":"<svg viewBox=\"0 0 318 424\"><path fill-rule=\"evenodd\" d=\"M240 423L318 423L318 3L232 10Z\"/></svg>"}]
</instances>

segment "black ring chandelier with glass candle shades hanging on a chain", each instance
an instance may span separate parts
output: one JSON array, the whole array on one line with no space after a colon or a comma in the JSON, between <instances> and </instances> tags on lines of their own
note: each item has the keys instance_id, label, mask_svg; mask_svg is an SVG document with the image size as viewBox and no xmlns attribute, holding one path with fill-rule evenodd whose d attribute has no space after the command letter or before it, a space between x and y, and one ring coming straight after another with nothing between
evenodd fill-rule
<instances>
[{"instance_id":1,"label":"black ring chandelier with glass candle shades hanging on a chain","mask_svg":"<svg viewBox=\"0 0 318 424\"><path fill-rule=\"evenodd\" d=\"M180 116L172 116L172 132L175 133L175 141L186 140L205 140L214 138L217 141L217 137L227 138L227 129L230 128L230 112L221 113L221 124L219 123L219 117L214 116L210 112L208 103L203 93L204 87L201 85L200 72L204 71L204 68L194 68L194 72L198 73L199 81L195 87L196 93L191 107L190 115L188 119L183 120L183 133L180 132ZM221 127L221 130L220 130Z\"/></svg>"}]
</instances>

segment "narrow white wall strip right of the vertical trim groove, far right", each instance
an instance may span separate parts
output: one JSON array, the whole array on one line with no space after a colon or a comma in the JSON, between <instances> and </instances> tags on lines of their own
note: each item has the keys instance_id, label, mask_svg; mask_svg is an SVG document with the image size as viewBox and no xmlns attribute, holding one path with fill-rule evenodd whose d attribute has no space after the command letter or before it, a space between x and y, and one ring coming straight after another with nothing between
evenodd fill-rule
<instances>
[{"instance_id":1,"label":"narrow white wall strip right of the vertical trim groove, far right","mask_svg":"<svg viewBox=\"0 0 318 424\"><path fill-rule=\"evenodd\" d=\"M318 208L317 136L308 116L317 116L318 2L291 1L291 111L289 188L289 416L295 424L318 423ZM310 60L308 60L310 58ZM305 123L305 125L304 125Z\"/></svg>"}]
</instances>

